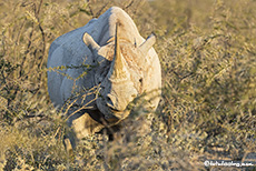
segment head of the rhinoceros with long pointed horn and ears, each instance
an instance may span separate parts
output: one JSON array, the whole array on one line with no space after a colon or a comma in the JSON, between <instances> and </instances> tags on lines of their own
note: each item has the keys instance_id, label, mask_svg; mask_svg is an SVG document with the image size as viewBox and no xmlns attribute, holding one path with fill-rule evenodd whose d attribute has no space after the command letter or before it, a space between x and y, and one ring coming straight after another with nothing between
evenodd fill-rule
<instances>
[{"instance_id":1,"label":"head of the rhinoceros with long pointed horn and ears","mask_svg":"<svg viewBox=\"0 0 256 171\"><path fill-rule=\"evenodd\" d=\"M91 50L96 68L95 83L100 84L97 108L108 121L122 120L129 114L128 104L144 90L144 76L147 72L147 53L156 41L151 34L137 46L122 38L116 24L115 38L100 47L88 33L83 42Z\"/></svg>"}]
</instances>

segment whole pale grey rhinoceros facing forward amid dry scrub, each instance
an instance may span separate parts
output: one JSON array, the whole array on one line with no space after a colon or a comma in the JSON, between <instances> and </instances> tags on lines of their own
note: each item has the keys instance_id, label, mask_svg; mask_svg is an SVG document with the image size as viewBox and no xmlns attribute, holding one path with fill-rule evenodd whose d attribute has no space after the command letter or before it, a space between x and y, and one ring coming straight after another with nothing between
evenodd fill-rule
<instances>
[{"instance_id":1,"label":"whole pale grey rhinoceros facing forward amid dry scrub","mask_svg":"<svg viewBox=\"0 0 256 171\"><path fill-rule=\"evenodd\" d=\"M83 110L76 113L70 108L73 114L68 120L76 139L126 119L131 111L128 105L141 94L144 107L156 110L161 72L155 41L155 34L145 40L132 19L112 7L51 43L49 95L56 107L77 97L72 107Z\"/></svg>"}]
</instances>

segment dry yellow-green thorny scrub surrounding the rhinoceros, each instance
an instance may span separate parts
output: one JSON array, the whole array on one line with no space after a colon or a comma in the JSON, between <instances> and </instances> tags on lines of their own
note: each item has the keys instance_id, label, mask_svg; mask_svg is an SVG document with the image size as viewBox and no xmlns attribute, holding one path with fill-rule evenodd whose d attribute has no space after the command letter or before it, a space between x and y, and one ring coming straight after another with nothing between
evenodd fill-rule
<instances>
[{"instance_id":1,"label":"dry yellow-green thorny scrub surrounding the rhinoceros","mask_svg":"<svg viewBox=\"0 0 256 171\"><path fill-rule=\"evenodd\" d=\"M47 92L49 46L111 6L145 38L157 34L161 102L147 135L138 109L124 137L88 137L70 158ZM255 0L1 0L0 170L214 170L206 159L255 158Z\"/></svg>"}]
</instances>

